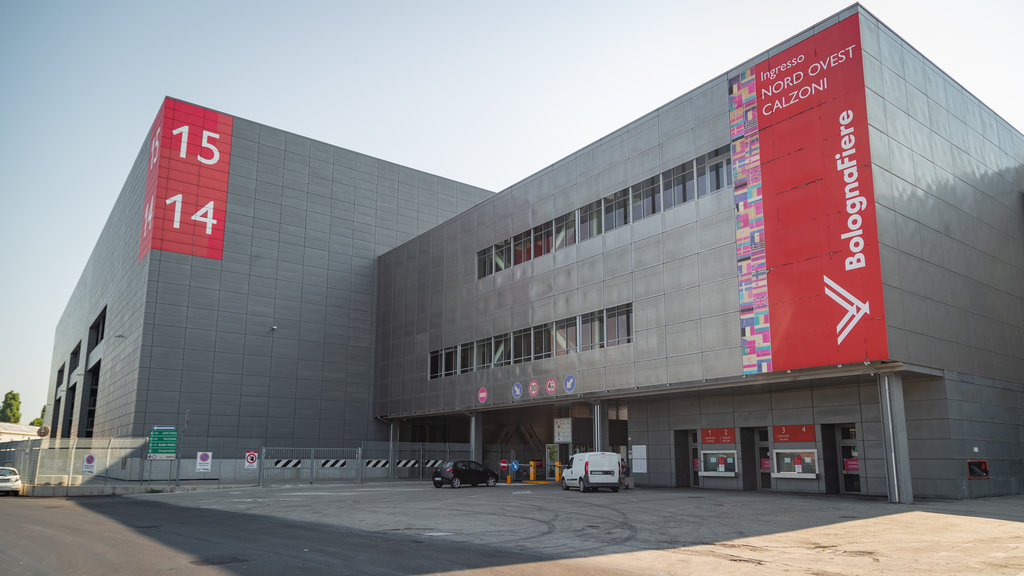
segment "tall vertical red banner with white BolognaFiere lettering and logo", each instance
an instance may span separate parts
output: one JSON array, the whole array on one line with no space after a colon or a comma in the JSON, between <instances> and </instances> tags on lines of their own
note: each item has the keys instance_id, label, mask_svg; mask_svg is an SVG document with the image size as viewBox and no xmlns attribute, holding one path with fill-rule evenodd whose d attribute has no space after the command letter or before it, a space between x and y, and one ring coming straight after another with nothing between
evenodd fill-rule
<instances>
[{"instance_id":1,"label":"tall vertical red banner with white BolognaFiere lettering and logo","mask_svg":"<svg viewBox=\"0 0 1024 576\"><path fill-rule=\"evenodd\" d=\"M754 73L772 370L884 360L859 17Z\"/></svg>"}]
</instances>

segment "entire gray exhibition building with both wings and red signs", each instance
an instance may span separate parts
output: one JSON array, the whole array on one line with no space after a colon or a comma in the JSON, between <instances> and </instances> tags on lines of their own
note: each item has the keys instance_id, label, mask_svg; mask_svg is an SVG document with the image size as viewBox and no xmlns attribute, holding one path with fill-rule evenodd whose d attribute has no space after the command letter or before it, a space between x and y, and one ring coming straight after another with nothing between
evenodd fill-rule
<instances>
[{"instance_id":1,"label":"entire gray exhibition building with both wings and red signs","mask_svg":"<svg viewBox=\"0 0 1024 576\"><path fill-rule=\"evenodd\" d=\"M497 195L169 99L47 413L610 449L641 486L1020 493L1022 190L1024 135L859 5Z\"/></svg>"}]
</instances>

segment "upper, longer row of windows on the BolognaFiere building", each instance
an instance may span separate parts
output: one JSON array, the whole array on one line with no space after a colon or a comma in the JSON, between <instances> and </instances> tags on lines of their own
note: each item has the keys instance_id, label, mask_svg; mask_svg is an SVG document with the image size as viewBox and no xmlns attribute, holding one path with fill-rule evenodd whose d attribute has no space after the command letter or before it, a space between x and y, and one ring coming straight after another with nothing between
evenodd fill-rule
<instances>
[{"instance_id":1,"label":"upper, longer row of windows on the BolognaFiere building","mask_svg":"<svg viewBox=\"0 0 1024 576\"><path fill-rule=\"evenodd\" d=\"M631 187L476 253L476 278L610 232L732 186L729 147L687 160Z\"/></svg>"}]
</instances>

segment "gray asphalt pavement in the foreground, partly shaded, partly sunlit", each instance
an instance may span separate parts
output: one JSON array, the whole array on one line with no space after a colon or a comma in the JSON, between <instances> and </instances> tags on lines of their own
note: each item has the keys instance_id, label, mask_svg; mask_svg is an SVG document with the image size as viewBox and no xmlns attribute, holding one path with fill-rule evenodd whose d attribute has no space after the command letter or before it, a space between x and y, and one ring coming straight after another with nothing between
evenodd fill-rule
<instances>
[{"instance_id":1,"label":"gray asphalt pavement in the foreground, partly shaded, partly sunlit","mask_svg":"<svg viewBox=\"0 0 1024 576\"><path fill-rule=\"evenodd\" d=\"M3 498L0 574L1024 574L1024 496L295 485Z\"/></svg>"}]
</instances>

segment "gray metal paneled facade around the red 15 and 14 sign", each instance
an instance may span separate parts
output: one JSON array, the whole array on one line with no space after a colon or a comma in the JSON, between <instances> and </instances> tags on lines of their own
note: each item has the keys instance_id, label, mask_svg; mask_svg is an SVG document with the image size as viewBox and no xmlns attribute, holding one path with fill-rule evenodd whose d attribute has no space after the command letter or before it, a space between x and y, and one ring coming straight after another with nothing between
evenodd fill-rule
<instances>
[{"instance_id":1,"label":"gray metal paneled facade around the red 15 and 14 sign","mask_svg":"<svg viewBox=\"0 0 1024 576\"><path fill-rule=\"evenodd\" d=\"M372 410L376 258L493 193L236 118L223 259L139 261L147 143L56 328L51 434L85 436L83 368L98 362L95 437L183 429L187 411L189 437L386 439Z\"/></svg>"}]
</instances>

